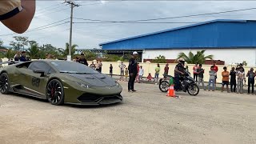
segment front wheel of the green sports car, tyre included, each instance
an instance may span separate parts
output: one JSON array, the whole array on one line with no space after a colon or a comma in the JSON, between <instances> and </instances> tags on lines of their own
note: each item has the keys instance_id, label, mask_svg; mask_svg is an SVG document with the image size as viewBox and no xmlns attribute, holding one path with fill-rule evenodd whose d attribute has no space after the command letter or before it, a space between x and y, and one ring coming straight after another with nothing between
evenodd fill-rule
<instances>
[{"instance_id":1,"label":"front wheel of the green sports car, tyre included","mask_svg":"<svg viewBox=\"0 0 256 144\"><path fill-rule=\"evenodd\" d=\"M64 103L62 82L58 79L51 80L46 86L46 98L52 105L62 105Z\"/></svg>"}]
</instances>

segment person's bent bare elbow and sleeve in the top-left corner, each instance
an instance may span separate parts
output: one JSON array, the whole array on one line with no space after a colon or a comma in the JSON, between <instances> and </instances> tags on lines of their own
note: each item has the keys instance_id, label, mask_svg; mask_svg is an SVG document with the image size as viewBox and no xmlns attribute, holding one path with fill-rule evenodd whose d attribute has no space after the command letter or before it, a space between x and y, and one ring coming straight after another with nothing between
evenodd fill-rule
<instances>
[{"instance_id":1,"label":"person's bent bare elbow and sleeve in the top-left corner","mask_svg":"<svg viewBox=\"0 0 256 144\"><path fill-rule=\"evenodd\" d=\"M35 0L1 0L0 21L15 33L22 34L34 17Z\"/></svg>"}]
</instances>

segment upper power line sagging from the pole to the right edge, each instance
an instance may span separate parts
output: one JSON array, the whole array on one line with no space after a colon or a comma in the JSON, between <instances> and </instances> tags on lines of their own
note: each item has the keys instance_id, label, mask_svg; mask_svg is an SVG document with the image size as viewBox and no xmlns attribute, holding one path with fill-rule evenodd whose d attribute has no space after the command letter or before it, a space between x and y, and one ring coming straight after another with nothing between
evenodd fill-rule
<instances>
[{"instance_id":1,"label":"upper power line sagging from the pole to the right edge","mask_svg":"<svg viewBox=\"0 0 256 144\"><path fill-rule=\"evenodd\" d=\"M202 15L225 14L225 13L232 13L232 12L246 11L246 10L255 10L255 9L256 8L248 8L248 9L240 9L240 10L227 10L227 11L206 13L206 14L190 14L190 15L183 15L183 16L177 16L177 17L150 18L150 19L130 20L130 21L110 21L110 20L90 19L90 18L75 18L75 19L82 19L85 21L95 21L95 22L146 22L146 21L156 21L156 20L174 19L174 18L189 18L189 17L196 17L196 16L202 16Z\"/></svg>"}]
</instances>

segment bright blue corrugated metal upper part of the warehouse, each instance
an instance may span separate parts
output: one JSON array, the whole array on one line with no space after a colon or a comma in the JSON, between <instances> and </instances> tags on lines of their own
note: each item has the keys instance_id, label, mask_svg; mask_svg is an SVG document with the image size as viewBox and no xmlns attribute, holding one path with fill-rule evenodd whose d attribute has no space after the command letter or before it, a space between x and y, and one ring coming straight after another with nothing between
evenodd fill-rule
<instances>
[{"instance_id":1,"label":"bright blue corrugated metal upper part of the warehouse","mask_svg":"<svg viewBox=\"0 0 256 144\"><path fill-rule=\"evenodd\" d=\"M103 44L103 50L256 46L256 22L212 22Z\"/></svg>"}]
</instances>

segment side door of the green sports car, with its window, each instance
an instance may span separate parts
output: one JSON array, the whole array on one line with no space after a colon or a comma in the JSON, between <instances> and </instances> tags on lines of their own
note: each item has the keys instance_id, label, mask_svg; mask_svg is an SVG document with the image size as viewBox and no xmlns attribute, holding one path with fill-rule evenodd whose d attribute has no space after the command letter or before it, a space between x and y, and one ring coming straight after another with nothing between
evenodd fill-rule
<instances>
[{"instance_id":1,"label":"side door of the green sports car, with its window","mask_svg":"<svg viewBox=\"0 0 256 144\"><path fill-rule=\"evenodd\" d=\"M26 86L31 92L39 96L45 97L46 85L50 77L50 71L52 68L46 62L32 62L26 73ZM35 73L34 70L44 71L42 74Z\"/></svg>"}]
</instances>

